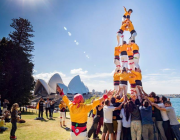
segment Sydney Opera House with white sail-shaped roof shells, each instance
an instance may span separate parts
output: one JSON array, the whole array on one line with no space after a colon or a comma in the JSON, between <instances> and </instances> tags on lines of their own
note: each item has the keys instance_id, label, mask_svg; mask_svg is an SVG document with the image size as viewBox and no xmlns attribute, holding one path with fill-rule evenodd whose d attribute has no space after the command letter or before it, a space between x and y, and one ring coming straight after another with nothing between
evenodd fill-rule
<instances>
[{"instance_id":1,"label":"Sydney Opera House with white sail-shaped roof shells","mask_svg":"<svg viewBox=\"0 0 180 140\"><path fill-rule=\"evenodd\" d=\"M61 76L56 73L49 79L48 83L43 79L38 79L35 85L34 95L49 96L55 94L57 85L63 89L66 95L75 95L77 93L82 95L89 94L88 87L81 81L79 75L75 76L68 86L66 86Z\"/></svg>"}]
</instances>

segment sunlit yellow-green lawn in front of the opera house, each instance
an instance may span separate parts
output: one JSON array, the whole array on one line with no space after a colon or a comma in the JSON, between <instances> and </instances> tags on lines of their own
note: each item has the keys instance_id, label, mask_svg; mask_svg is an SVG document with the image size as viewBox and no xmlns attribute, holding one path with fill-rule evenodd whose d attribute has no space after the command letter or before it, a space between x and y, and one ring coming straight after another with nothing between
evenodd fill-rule
<instances>
[{"instance_id":1,"label":"sunlit yellow-green lawn in front of the opera house","mask_svg":"<svg viewBox=\"0 0 180 140\"><path fill-rule=\"evenodd\" d=\"M37 117L35 110L34 113L32 113L33 110L30 111L22 115L22 119L26 120L26 123L17 124L18 140L70 140L70 132L60 127L59 113L54 113L54 120L40 121L34 120ZM67 113L67 118L70 118L69 113ZM66 124L70 128L70 119L66 119ZM88 129L91 124L92 118L88 118ZM11 123L6 123L6 127L8 130L0 133L0 140L9 139Z\"/></svg>"}]
</instances>

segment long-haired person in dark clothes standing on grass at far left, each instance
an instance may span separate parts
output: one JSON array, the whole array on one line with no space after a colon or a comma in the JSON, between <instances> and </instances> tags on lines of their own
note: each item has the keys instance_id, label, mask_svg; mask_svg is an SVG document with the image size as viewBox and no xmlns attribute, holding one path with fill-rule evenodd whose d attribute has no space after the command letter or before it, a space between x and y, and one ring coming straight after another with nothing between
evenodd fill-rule
<instances>
[{"instance_id":1,"label":"long-haired person in dark clothes standing on grass at far left","mask_svg":"<svg viewBox=\"0 0 180 140\"><path fill-rule=\"evenodd\" d=\"M17 129L17 121L19 120L18 107L19 107L19 105L17 103L14 103L11 108L12 129L11 129L11 133L10 133L10 138L12 138L12 139L16 139L15 132Z\"/></svg>"}]
</instances>

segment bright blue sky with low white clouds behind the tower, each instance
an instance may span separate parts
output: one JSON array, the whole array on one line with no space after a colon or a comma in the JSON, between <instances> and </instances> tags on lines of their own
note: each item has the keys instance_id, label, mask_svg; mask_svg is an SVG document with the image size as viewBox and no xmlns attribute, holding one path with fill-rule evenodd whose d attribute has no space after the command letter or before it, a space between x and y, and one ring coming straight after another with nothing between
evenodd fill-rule
<instances>
[{"instance_id":1,"label":"bright blue sky with low white clouds behind the tower","mask_svg":"<svg viewBox=\"0 0 180 140\"><path fill-rule=\"evenodd\" d=\"M116 32L123 6L132 8L144 89L174 94L180 85L179 5L178 0L5 0L0 38L13 30L12 18L26 18L35 31L35 78L48 81L57 72L68 84L80 74L90 90L112 89ZM125 39L129 36L126 32Z\"/></svg>"}]
</instances>

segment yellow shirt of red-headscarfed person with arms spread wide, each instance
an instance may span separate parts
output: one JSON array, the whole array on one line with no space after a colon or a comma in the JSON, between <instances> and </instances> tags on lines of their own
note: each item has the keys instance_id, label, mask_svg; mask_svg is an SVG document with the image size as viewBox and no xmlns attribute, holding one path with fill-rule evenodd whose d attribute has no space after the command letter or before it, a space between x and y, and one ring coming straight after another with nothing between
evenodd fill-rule
<instances>
[{"instance_id":1,"label":"yellow shirt of red-headscarfed person with arms spread wide","mask_svg":"<svg viewBox=\"0 0 180 140\"><path fill-rule=\"evenodd\" d=\"M69 101L66 95L64 95L63 101L66 103L66 105L69 108L71 122L76 122L76 123L87 122L88 119L87 114L89 113L89 111L91 111L93 108L95 108L100 104L100 100L98 99L93 101L93 103L91 104L80 103L80 107L77 108L78 104L73 105L73 103Z\"/></svg>"}]
</instances>

